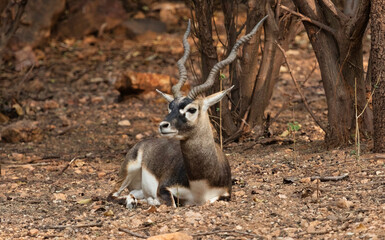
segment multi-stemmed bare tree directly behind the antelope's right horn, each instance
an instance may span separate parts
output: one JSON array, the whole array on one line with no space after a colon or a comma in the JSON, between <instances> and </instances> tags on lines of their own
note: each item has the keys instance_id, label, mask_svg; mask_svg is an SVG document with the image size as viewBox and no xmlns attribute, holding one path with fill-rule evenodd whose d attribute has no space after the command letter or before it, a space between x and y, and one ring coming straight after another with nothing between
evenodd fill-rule
<instances>
[{"instance_id":1,"label":"multi-stemmed bare tree directly behind the antelope's right horn","mask_svg":"<svg viewBox=\"0 0 385 240\"><path fill-rule=\"evenodd\" d=\"M242 133L252 129L258 135L263 134L266 129L264 111L270 101L280 66L283 63L283 55L277 51L277 42L284 49L288 49L298 26L290 14L279 11L277 7L280 1L277 3L269 0L247 1L246 22L237 26L240 2L237 0L220 2L220 8L225 17L227 54L244 27L248 33L264 16L269 17L265 22L264 31L260 31L250 42L246 43L239 60L230 65L230 83L228 84L235 85L235 88L230 99L224 99L221 105L222 126L228 139L236 139ZM288 2L289 5L289 1L285 2ZM214 6L214 1L203 0L192 0L190 4L195 16L194 22L197 25L195 30L202 59L202 79L206 79L209 74L208 70L218 61L216 47L213 45L215 22L212 21L216 6ZM291 6L291 9L294 9L294 5ZM219 88L220 81L217 81L213 91L218 91ZM212 109L213 115L218 116L216 111L218 107L215 106Z\"/></svg>"}]
</instances>

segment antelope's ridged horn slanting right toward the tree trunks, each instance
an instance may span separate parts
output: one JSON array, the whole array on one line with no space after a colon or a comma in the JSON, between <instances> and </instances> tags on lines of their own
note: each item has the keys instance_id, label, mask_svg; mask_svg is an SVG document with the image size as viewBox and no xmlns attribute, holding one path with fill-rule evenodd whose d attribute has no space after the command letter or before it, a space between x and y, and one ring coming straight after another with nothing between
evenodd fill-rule
<instances>
[{"instance_id":1,"label":"antelope's ridged horn slanting right toward the tree trunks","mask_svg":"<svg viewBox=\"0 0 385 240\"><path fill-rule=\"evenodd\" d=\"M199 94L207 91L208 89L210 89L214 85L215 76L218 74L219 70L221 70L222 68L229 65L231 62L233 62L235 60L235 58L237 57L238 48L242 44L249 41L253 37L253 35L258 31L260 26L262 26L262 23L266 20L266 18L267 18L267 15L265 17L263 17L262 20L259 21L259 23L257 23L257 25L255 25L255 27L251 30L251 32L249 34L241 37L234 44L234 47L233 47L233 49L231 49L229 56L226 59L224 59L224 60L222 60L222 61L220 61L214 65L214 67L210 71L210 74L209 74L206 82L204 82L201 85L195 86L193 89L191 89L191 91L187 95L188 98L195 99Z\"/></svg>"}]
</instances>

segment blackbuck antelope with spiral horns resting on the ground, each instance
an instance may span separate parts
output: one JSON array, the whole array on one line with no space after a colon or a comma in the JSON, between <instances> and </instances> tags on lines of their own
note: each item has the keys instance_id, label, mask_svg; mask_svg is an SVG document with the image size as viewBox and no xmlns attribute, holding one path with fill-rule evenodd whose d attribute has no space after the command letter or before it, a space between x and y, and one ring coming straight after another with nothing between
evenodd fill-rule
<instances>
[{"instance_id":1,"label":"blackbuck antelope with spiral horns resting on the ground","mask_svg":"<svg viewBox=\"0 0 385 240\"><path fill-rule=\"evenodd\" d=\"M132 208L137 199L147 200L151 205L165 203L169 206L230 199L229 162L214 142L207 110L232 87L208 97L199 95L212 87L219 70L234 61L237 49L251 39L265 19L236 42L229 56L213 67L205 83L194 87L184 97L180 89L187 80L184 64L190 53L189 21L183 37L184 54L177 63L180 78L172 87L173 95L157 90L169 102L169 113L159 124L163 138L139 142L127 153L110 200L118 200ZM129 194L120 196L126 188Z\"/></svg>"}]
</instances>

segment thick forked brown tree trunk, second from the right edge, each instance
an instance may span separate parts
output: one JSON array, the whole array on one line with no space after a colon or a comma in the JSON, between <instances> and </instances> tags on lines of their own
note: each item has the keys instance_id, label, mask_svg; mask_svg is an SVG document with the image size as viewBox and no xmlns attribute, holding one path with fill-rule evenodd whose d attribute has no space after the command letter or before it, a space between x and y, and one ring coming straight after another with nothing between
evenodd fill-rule
<instances>
[{"instance_id":1,"label":"thick forked brown tree trunk, second from the right edge","mask_svg":"<svg viewBox=\"0 0 385 240\"><path fill-rule=\"evenodd\" d=\"M355 87L359 111L366 103L362 36L368 22L369 1L361 0L352 18L339 11L330 0L293 2L302 14L326 26L321 30L320 24L304 22L320 66L327 98L329 126L325 142L330 147L349 144L353 142L355 129ZM370 110L367 110L364 121L369 117ZM364 125L361 130L370 131L371 126Z\"/></svg>"}]
</instances>

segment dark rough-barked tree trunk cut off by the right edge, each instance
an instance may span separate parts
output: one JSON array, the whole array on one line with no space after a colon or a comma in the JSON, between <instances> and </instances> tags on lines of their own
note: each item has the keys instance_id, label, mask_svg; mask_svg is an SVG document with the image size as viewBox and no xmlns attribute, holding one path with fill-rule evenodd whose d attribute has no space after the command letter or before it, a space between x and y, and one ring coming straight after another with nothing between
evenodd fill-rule
<instances>
[{"instance_id":1,"label":"dark rough-barked tree trunk cut off by the right edge","mask_svg":"<svg viewBox=\"0 0 385 240\"><path fill-rule=\"evenodd\" d=\"M371 3L371 82L373 95L374 152L385 152L385 0Z\"/></svg>"}]
</instances>

